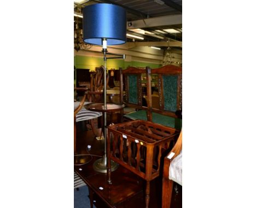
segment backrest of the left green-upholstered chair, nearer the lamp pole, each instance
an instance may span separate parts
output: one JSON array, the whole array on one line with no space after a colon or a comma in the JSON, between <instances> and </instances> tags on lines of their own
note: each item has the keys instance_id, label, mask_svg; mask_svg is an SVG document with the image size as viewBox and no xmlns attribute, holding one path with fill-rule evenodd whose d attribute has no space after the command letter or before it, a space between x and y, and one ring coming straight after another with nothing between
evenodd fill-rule
<instances>
[{"instance_id":1,"label":"backrest of the left green-upholstered chair, nearer the lamp pole","mask_svg":"<svg viewBox=\"0 0 256 208\"><path fill-rule=\"evenodd\" d=\"M146 75L146 80L142 80L142 75ZM150 76L147 69L129 67L125 70L120 69L120 101L125 104L126 107L132 107L136 109L148 110L148 107L143 106L143 85L148 85ZM144 82L144 83L143 83ZM125 95L123 95L123 90ZM151 94L151 87L147 87L147 94ZM149 106L149 100L147 100L147 106Z\"/></svg>"}]
</instances>

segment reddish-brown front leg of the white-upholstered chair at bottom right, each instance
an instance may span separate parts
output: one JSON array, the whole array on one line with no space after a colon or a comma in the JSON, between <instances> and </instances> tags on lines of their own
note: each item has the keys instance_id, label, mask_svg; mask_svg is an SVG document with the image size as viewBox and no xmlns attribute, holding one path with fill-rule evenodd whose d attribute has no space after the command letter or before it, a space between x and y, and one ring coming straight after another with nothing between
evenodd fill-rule
<instances>
[{"instance_id":1,"label":"reddish-brown front leg of the white-upholstered chair at bottom right","mask_svg":"<svg viewBox=\"0 0 256 208\"><path fill-rule=\"evenodd\" d=\"M173 181L162 178L162 208L170 208Z\"/></svg>"}]
</instances>

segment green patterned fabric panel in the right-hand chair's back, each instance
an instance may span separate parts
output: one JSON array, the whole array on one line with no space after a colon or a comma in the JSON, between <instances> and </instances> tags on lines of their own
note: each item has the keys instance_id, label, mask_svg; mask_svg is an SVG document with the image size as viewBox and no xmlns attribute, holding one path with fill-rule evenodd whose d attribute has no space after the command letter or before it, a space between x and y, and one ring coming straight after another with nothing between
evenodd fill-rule
<instances>
[{"instance_id":1,"label":"green patterned fabric panel in the right-hand chair's back","mask_svg":"<svg viewBox=\"0 0 256 208\"><path fill-rule=\"evenodd\" d=\"M165 110L175 112L177 110L177 79L178 76L163 75Z\"/></svg>"}]
</instances>

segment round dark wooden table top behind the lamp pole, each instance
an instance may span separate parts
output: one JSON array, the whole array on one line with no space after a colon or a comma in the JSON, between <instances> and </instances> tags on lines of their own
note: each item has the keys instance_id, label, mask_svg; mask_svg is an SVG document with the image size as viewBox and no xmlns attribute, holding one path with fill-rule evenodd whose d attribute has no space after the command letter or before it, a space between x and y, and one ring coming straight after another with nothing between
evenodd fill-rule
<instances>
[{"instance_id":1,"label":"round dark wooden table top behind the lamp pole","mask_svg":"<svg viewBox=\"0 0 256 208\"><path fill-rule=\"evenodd\" d=\"M120 111L125 105L117 105L113 103L107 103L107 108L104 108L104 103L89 103L84 106L89 111L96 111L96 112L114 112Z\"/></svg>"}]
</instances>

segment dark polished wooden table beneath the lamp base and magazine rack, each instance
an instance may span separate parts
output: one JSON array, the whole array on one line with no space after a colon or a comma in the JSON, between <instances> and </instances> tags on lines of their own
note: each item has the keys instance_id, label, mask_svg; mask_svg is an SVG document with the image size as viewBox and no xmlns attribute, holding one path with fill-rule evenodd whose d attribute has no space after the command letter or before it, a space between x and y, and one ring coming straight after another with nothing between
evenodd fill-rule
<instances>
[{"instance_id":1,"label":"dark polished wooden table beneath the lamp base and magazine rack","mask_svg":"<svg viewBox=\"0 0 256 208\"><path fill-rule=\"evenodd\" d=\"M96 158L94 157L90 163L94 163L95 161ZM107 182L106 173L95 172L89 165L87 167L75 167L75 172L88 185L91 208L94 200L96 200L95 204L97 208L118 207L118 204L129 200L138 193L143 193L143 181L121 166L112 173L113 178L116 180L113 180L111 185ZM79 168L82 170L79 170ZM107 206L104 206L104 204Z\"/></svg>"}]
</instances>

